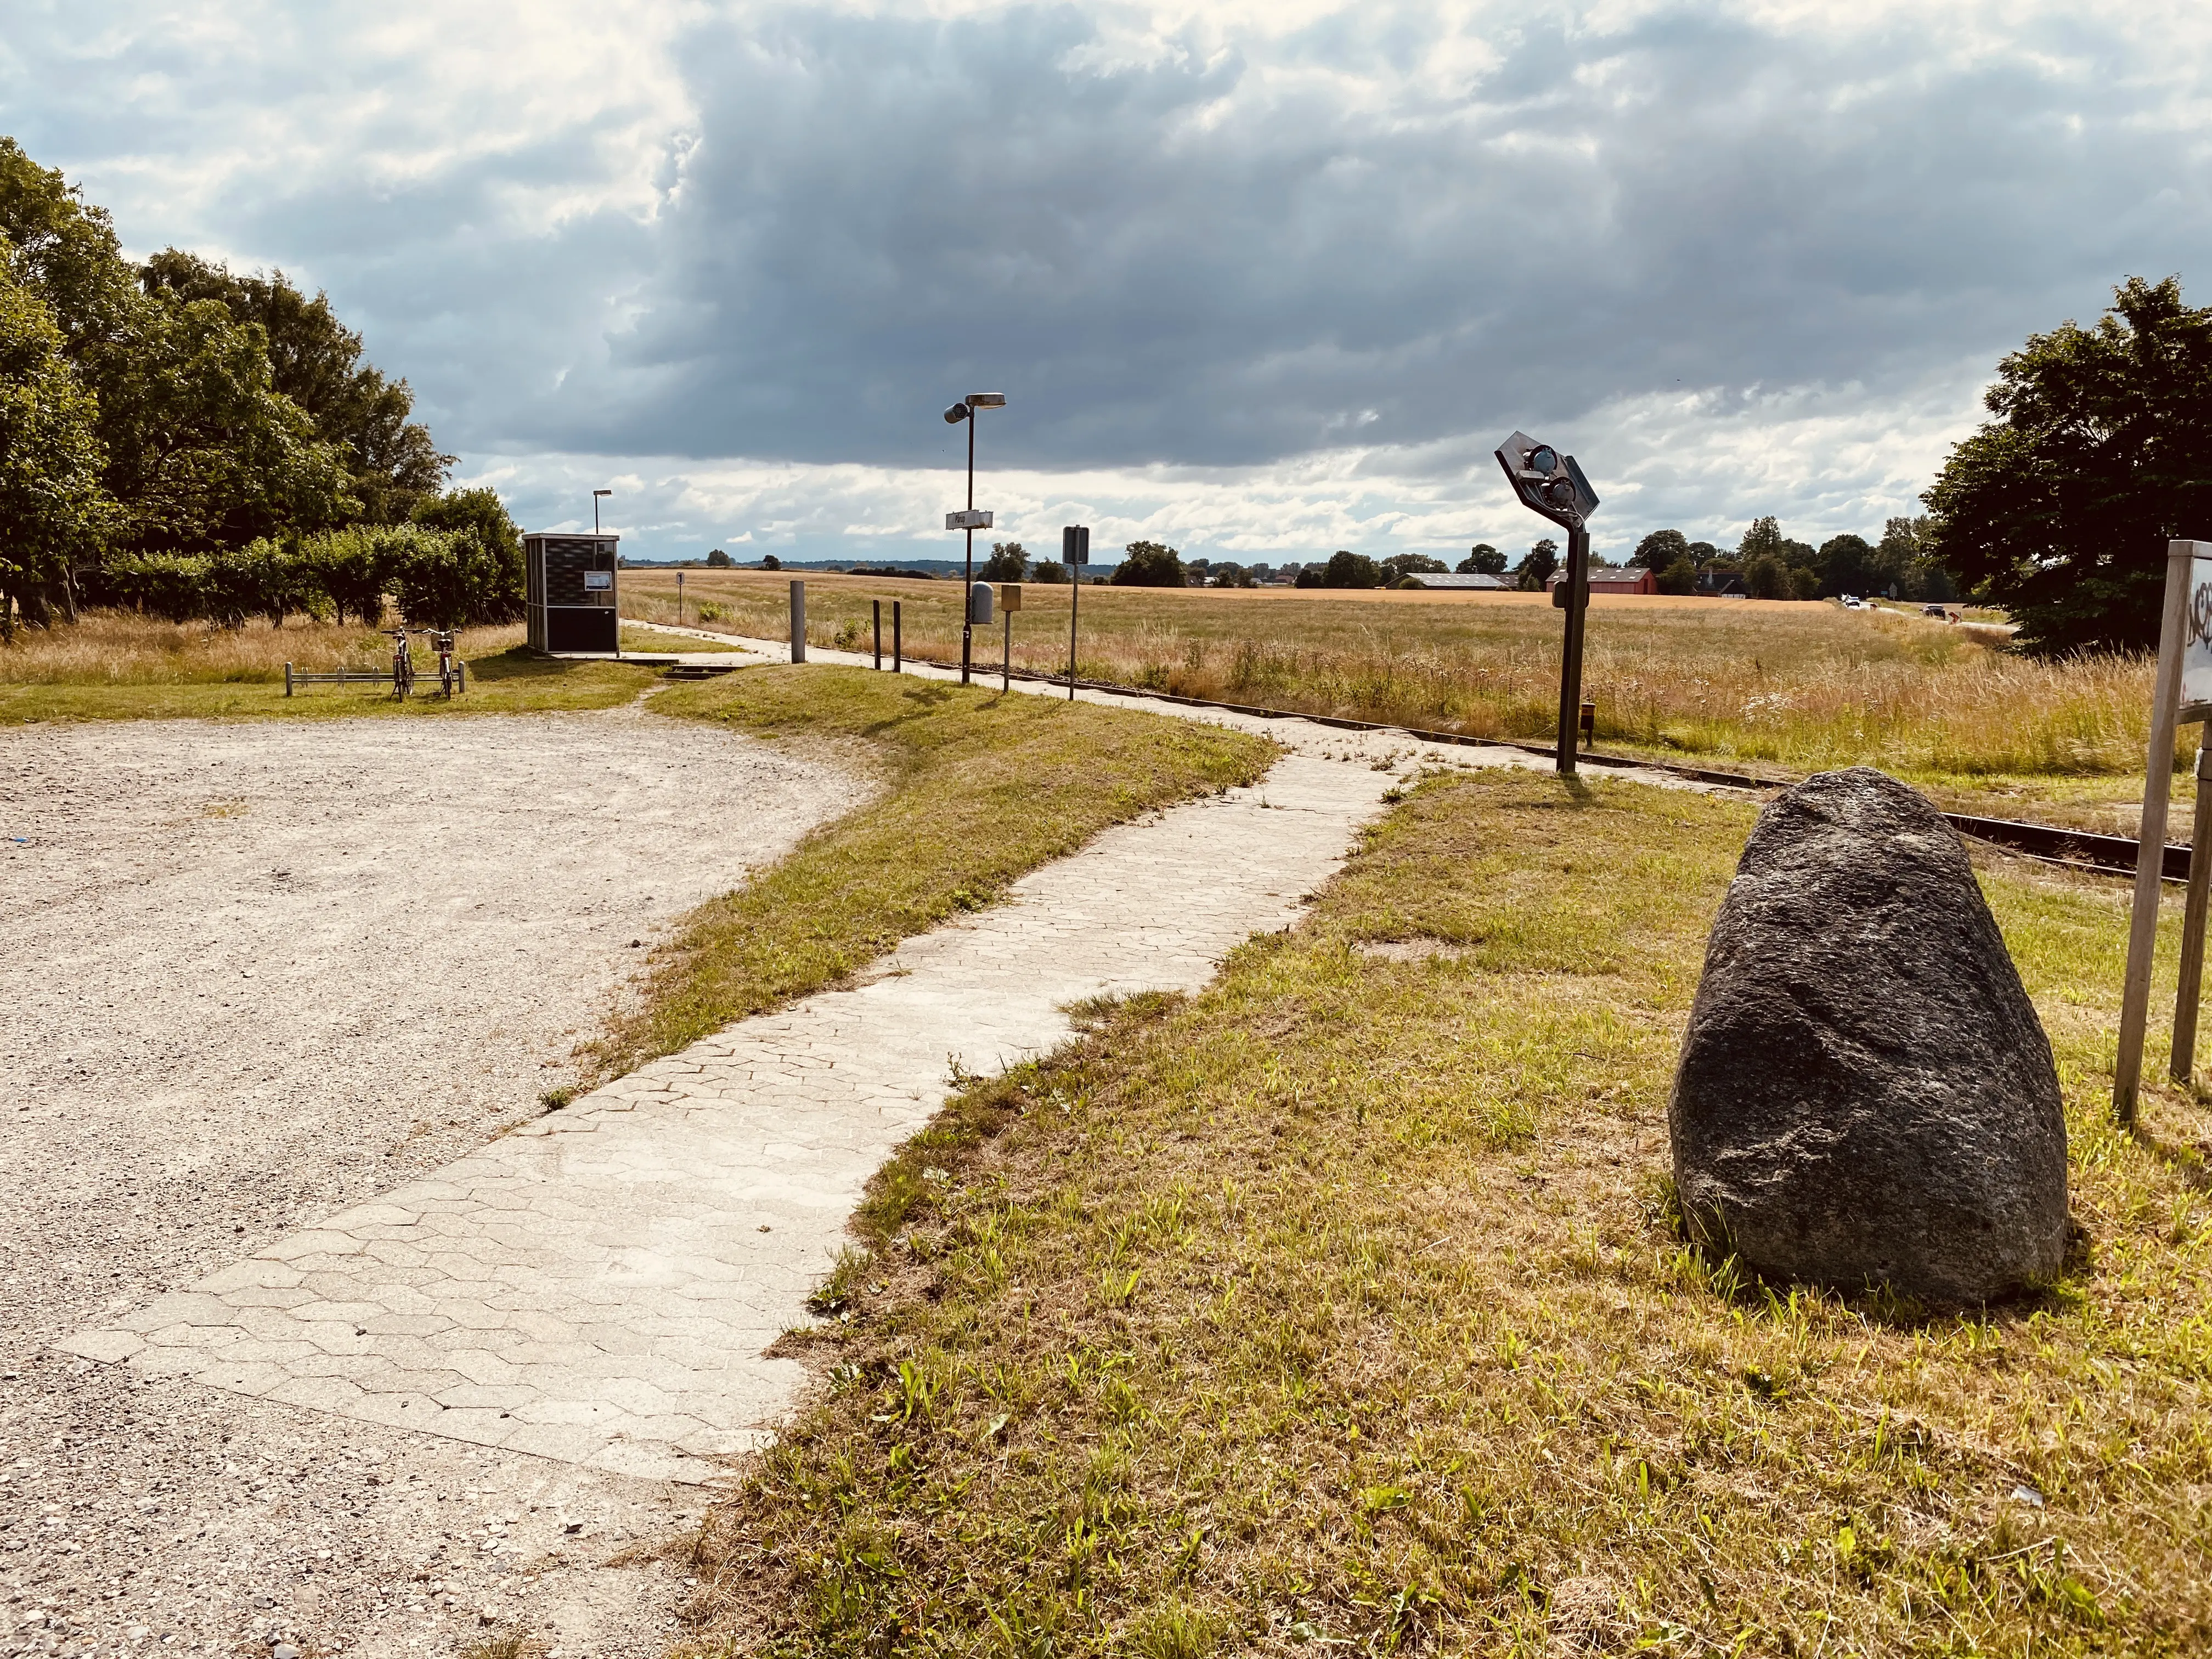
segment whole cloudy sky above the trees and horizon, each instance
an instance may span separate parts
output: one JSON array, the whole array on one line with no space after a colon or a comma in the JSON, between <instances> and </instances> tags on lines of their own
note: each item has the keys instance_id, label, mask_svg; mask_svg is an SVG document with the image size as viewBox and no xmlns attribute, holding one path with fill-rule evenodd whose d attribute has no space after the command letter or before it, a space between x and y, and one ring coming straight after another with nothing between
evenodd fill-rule
<instances>
[{"instance_id":1,"label":"whole cloudy sky above the trees and horizon","mask_svg":"<svg viewBox=\"0 0 2212 1659\"><path fill-rule=\"evenodd\" d=\"M2031 330L2212 283L2212 9L9 0L0 131L325 288L644 557L1878 533ZM2203 301L2212 290L2190 288Z\"/></svg>"}]
</instances>

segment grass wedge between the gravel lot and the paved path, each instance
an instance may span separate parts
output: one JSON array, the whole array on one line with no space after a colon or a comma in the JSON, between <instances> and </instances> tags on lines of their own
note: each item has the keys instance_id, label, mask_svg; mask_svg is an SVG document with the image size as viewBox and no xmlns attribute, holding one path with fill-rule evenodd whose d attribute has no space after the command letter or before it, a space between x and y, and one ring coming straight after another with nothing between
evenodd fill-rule
<instances>
[{"instance_id":1,"label":"grass wedge between the gravel lot and the paved path","mask_svg":"<svg viewBox=\"0 0 2212 1659\"><path fill-rule=\"evenodd\" d=\"M599 1075L836 984L1106 825L1254 783L1276 754L1214 726L863 668L748 668L670 686L653 710L827 745L876 765L883 790L684 920L593 1051Z\"/></svg>"}]
</instances>

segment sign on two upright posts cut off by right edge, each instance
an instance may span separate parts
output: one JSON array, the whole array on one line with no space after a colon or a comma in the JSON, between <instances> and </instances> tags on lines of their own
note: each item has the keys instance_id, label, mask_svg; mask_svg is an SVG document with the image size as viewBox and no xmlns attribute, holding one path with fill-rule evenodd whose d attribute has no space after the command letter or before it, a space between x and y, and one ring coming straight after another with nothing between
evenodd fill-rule
<instances>
[{"instance_id":1,"label":"sign on two upright posts cut off by right edge","mask_svg":"<svg viewBox=\"0 0 2212 1659\"><path fill-rule=\"evenodd\" d=\"M2159 885L2166 874L2166 803L2174 783L2174 730L2212 721L2212 542L2166 544L2166 606L2159 617L2159 675L2150 703L2150 754L2143 765L2143 823L2135 843L2135 902L2128 909L2128 982L2119 1002L2119 1057L2112 1062L2112 1115L2135 1121L2150 1024L2150 962L2159 942ZM2197 1064L2197 995L2203 984L2205 898L2212 889L2212 770L2197 743L2197 814L2190 834L2190 889L2181 914L2181 989L2174 998L2170 1075L2188 1082Z\"/></svg>"}]
</instances>

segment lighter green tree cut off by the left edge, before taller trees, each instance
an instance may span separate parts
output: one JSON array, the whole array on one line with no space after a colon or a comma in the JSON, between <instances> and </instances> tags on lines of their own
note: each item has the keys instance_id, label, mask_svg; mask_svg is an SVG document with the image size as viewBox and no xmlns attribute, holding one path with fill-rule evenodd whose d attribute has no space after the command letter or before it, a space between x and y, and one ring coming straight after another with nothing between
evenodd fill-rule
<instances>
[{"instance_id":1,"label":"lighter green tree cut off by the left edge, before taller trees","mask_svg":"<svg viewBox=\"0 0 2212 1659\"><path fill-rule=\"evenodd\" d=\"M100 553L115 504L100 487L97 416L53 312L0 257L0 637L18 611L38 624L73 611L71 566Z\"/></svg>"}]
</instances>

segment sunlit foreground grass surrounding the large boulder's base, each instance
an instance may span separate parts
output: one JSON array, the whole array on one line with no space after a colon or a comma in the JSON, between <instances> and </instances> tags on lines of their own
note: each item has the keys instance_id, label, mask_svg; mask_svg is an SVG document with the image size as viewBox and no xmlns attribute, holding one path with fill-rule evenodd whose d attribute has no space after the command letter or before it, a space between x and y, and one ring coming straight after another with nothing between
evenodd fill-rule
<instances>
[{"instance_id":1,"label":"sunlit foreground grass surrounding the large boulder's base","mask_svg":"<svg viewBox=\"0 0 2212 1659\"><path fill-rule=\"evenodd\" d=\"M1750 818L1431 781L1208 993L971 1084L792 1338L825 1387L710 1520L688 1652L2203 1652L2212 1113L2106 1124L2124 889L1984 872L2066 1279L1770 1294L1663 1183Z\"/></svg>"}]
</instances>

